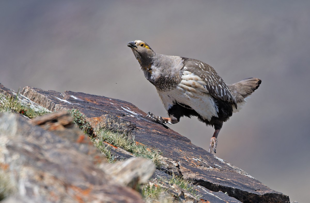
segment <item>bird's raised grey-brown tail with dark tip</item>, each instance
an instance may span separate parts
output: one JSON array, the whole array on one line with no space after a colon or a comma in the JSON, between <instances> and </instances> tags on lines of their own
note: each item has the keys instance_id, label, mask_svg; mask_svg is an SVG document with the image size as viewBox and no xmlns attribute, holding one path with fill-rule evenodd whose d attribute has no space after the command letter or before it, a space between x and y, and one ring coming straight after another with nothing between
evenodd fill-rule
<instances>
[{"instance_id":1,"label":"bird's raised grey-brown tail with dark tip","mask_svg":"<svg viewBox=\"0 0 310 203\"><path fill-rule=\"evenodd\" d=\"M232 95L236 98L237 103L244 102L245 98L250 96L255 89L259 87L262 80L258 78L246 78L240 82L227 85Z\"/></svg>"}]
</instances>

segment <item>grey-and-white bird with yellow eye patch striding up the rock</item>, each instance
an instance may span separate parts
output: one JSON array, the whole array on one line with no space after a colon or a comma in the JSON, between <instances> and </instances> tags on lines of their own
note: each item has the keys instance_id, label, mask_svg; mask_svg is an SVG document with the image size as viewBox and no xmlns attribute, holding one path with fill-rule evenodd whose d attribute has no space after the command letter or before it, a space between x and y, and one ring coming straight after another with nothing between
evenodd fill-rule
<instances>
[{"instance_id":1,"label":"grey-and-white bird with yellow eye patch striding up the rock","mask_svg":"<svg viewBox=\"0 0 310 203\"><path fill-rule=\"evenodd\" d=\"M183 116L196 116L215 132L209 153L216 153L217 137L223 123L238 112L247 98L261 84L258 78L246 78L226 84L210 65L192 58L157 54L144 41L127 44L140 64L145 78L151 82L169 117L147 112L147 117L161 124L175 124Z\"/></svg>"}]
</instances>

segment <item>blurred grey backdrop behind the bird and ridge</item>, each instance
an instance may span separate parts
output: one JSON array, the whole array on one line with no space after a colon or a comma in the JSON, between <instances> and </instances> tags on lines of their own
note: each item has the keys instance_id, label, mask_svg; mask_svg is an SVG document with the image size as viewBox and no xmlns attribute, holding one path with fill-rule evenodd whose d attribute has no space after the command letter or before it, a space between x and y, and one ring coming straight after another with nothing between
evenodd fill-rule
<instances>
[{"instance_id":1,"label":"blurred grey backdrop behind the bird and ridge","mask_svg":"<svg viewBox=\"0 0 310 203\"><path fill-rule=\"evenodd\" d=\"M231 84L257 77L247 105L224 123L216 155L268 187L308 202L310 1L0 2L0 83L84 92L166 115L127 42L199 59ZM196 118L168 125L204 149Z\"/></svg>"}]
</instances>

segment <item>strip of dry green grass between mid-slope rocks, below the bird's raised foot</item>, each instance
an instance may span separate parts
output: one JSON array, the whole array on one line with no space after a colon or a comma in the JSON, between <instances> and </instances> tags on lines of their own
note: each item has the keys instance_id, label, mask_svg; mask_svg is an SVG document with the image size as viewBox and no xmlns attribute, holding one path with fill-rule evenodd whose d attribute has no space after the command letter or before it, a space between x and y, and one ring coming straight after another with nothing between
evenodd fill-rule
<instances>
[{"instance_id":1,"label":"strip of dry green grass between mid-slope rocks, below the bird's raised foot","mask_svg":"<svg viewBox=\"0 0 310 203\"><path fill-rule=\"evenodd\" d=\"M156 149L148 148L141 143L132 143L126 136L119 132L112 132L105 129L96 130L97 139L100 142L107 142L116 147L121 147L126 151L132 153L136 157L144 157L152 160L154 164L159 167L161 165L160 152Z\"/></svg>"}]
</instances>

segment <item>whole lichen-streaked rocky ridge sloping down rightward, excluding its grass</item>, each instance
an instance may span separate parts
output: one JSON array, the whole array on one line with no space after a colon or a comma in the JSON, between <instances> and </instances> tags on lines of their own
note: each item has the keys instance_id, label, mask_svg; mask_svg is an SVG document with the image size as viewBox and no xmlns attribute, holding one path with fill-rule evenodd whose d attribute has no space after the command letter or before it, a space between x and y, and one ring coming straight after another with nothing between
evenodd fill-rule
<instances>
[{"instance_id":1,"label":"whole lichen-streaked rocky ridge sloping down rightward, excluding its grass","mask_svg":"<svg viewBox=\"0 0 310 203\"><path fill-rule=\"evenodd\" d=\"M16 95L2 84L0 93ZM4 201L9 202L11 198L15 198L36 200L34 202L143 202L139 193L132 189L134 185L142 179L139 184L147 181L149 176L150 181L155 182L162 177L170 179L174 174L192 180L195 183L194 189L200 196L200 199L192 197L177 185L163 185L179 201L290 202L288 196L268 188L245 171L193 145L189 139L169 127L146 118L145 112L129 102L86 93L59 93L33 87L25 87L20 94L23 102L52 112L78 109L86 116L93 129L100 127L119 132L134 143L159 150L162 164L155 170L153 163L148 160L137 160L133 154L111 146L111 153L117 159L127 161L109 165L87 135L76 131L73 136L66 137L67 133L55 131L59 126L74 131L72 122L68 123L68 118L64 119L68 117L67 113L49 114L31 122L18 119L20 116L17 114L1 114L1 123L9 120L10 127L0 127L0 150L6 152L0 157L0 166L2 171L14 179L14 184L19 185L15 187L18 195ZM53 155L62 157L63 161L55 160ZM22 158L13 160L12 157ZM74 159L75 157L78 159ZM68 164L64 165L64 162ZM125 180L125 176L117 175L126 173L124 171L128 169L129 162L132 163L131 171L141 169L141 172L132 172L130 177L135 178ZM16 175L16 171L19 171L19 175ZM28 179L25 179L26 176ZM28 184L27 187L25 183ZM21 184L23 187L20 187ZM36 187L36 184L42 187ZM16 188L24 188L24 191ZM47 193L50 196L42 196Z\"/></svg>"}]
</instances>

